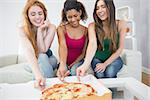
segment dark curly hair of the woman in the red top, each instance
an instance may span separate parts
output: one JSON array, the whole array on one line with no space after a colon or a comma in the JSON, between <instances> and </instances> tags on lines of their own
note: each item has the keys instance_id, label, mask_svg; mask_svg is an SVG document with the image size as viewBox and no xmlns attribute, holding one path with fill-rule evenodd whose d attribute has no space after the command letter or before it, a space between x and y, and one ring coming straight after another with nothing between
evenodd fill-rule
<instances>
[{"instance_id":1,"label":"dark curly hair of the woman in the red top","mask_svg":"<svg viewBox=\"0 0 150 100\"><path fill-rule=\"evenodd\" d=\"M64 8L62 10L62 20L61 20L62 23L68 22L66 12L71 9L75 9L78 12L80 12L81 10L82 11L81 20L85 21L87 19L88 16L85 7L81 2L78 2L77 0L66 0L64 3Z\"/></svg>"}]
</instances>

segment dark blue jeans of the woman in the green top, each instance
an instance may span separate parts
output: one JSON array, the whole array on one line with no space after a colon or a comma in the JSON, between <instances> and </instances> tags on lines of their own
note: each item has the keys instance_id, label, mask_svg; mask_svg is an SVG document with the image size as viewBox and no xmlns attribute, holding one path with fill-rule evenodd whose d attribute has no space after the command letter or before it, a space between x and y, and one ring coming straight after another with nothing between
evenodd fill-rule
<instances>
[{"instance_id":1,"label":"dark blue jeans of the woman in the green top","mask_svg":"<svg viewBox=\"0 0 150 100\"><path fill-rule=\"evenodd\" d=\"M104 72L95 72L96 64L103 63L101 60L97 58L93 58L92 60L92 69L94 70L94 74L97 78L116 78L117 73L123 66L123 61L120 57L114 60L111 64L109 64Z\"/></svg>"}]
</instances>

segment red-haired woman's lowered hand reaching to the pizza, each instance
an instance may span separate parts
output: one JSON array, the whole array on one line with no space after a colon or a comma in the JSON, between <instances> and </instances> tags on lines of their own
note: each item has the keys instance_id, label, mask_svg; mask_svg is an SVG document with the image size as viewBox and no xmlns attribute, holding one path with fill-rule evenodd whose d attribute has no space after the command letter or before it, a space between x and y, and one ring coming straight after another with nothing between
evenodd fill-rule
<instances>
[{"instance_id":1,"label":"red-haired woman's lowered hand reaching to the pizza","mask_svg":"<svg viewBox=\"0 0 150 100\"><path fill-rule=\"evenodd\" d=\"M45 88L46 79L42 75L37 75L35 79L34 87L43 90Z\"/></svg>"}]
</instances>

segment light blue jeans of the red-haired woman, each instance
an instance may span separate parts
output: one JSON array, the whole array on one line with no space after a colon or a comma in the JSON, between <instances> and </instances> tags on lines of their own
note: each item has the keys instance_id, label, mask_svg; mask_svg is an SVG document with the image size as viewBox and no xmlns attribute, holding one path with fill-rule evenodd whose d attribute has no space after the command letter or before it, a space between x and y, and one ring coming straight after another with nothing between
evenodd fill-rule
<instances>
[{"instance_id":1,"label":"light blue jeans of the red-haired woman","mask_svg":"<svg viewBox=\"0 0 150 100\"><path fill-rule=\"evenodd\" d=\"M49 50L47 52L50 52ZM53 54L48 55L46 53L39 54L38 65L39 65L39 69L40 69L42 75L45 78L54 77L54 75L55 75L54 70L58 66L56 57ZM26 66L25 70L32 73L31 67L32 66ZM33 79L35 79L34 75L33 75Z\"/></svg>"}]
</instances>

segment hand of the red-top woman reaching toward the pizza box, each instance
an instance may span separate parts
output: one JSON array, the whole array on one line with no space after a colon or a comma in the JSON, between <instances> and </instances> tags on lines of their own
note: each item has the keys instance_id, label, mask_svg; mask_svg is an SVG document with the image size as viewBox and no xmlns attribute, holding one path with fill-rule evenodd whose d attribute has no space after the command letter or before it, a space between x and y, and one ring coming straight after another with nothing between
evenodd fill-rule
<instances>
[{"instance_id":1,"label":"hand of the red-top woman reaching toward the pizza box","mask_svg":"<svg viewBox=\"0 0 150 100\"><path fill-rule=\"evenodd\" d=\"M64 66L59 66L57 71L57 76L61 81L64 81L64 78L70 74L70 71L67 70Z\"/></svg>"}]
</instances>

